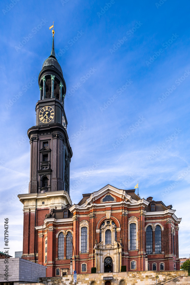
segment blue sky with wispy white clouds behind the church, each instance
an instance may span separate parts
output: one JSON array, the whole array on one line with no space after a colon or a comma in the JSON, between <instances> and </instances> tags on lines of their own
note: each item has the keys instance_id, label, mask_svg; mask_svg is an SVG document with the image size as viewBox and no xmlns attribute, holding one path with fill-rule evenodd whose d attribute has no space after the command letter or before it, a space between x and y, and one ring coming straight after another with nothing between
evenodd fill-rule
<instances>
[{"instance_id":1,"label":"blue sky with wispy white clouds behind the church","mask_svg":"<svg viewBox=\"0 0 190 285\"><path fill-rule=\"evenodd\" d=\"M73 203L107 184L133 189L139 181L141 198L172 204L182 217L179 257L189 256L189 8L185 0L1 1L0 226L8 217L13 257L22 250L17 195L28 192L26 134L36 123L53 21L67 85Z\"/></svg>"}]
</instances>

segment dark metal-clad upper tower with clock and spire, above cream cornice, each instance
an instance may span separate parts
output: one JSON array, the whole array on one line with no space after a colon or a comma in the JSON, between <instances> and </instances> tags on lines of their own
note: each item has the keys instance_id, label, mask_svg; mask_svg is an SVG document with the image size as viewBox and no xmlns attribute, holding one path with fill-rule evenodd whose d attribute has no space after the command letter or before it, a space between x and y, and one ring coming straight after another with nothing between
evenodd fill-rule
<instances>
[{"instance_id":1,"label":"dark metal-clad upper tower with clock and spire, above cream cornice","mask_svg":"<svg viewBox=\"0 0 190 285\"><path fill-rule=\"evenodd\" d=\"M40 100L36 126L28 130L31 145L29 193L64 190L69 194L72 150L64 110L66 84L54 52L44 61L38 77Z\"/></svg>"}]
</instances>

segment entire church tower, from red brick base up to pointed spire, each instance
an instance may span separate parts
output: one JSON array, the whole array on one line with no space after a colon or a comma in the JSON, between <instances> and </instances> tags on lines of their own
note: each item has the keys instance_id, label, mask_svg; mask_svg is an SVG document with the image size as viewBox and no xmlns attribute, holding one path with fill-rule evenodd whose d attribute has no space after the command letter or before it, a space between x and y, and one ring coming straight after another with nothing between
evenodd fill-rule
<instances>
[{"instance_id":1,"label":"entire church tower, from red brick base up to pointed spire","mask_svg":"<svg viewBox=\"0 0 190 285\"><path fill-rule=\"evenodd\" d=\"M53 31L54 32L54 31ZM73 155L67 134L64 110L66 84L54 50L38 77L40 89L36 103L36 125L28 130L30 139L29 193L18 195L24 204L23 258L38 262L38 237L51 209L72 205L70 199L70 161Z\"/></svg>"}]
</instances>

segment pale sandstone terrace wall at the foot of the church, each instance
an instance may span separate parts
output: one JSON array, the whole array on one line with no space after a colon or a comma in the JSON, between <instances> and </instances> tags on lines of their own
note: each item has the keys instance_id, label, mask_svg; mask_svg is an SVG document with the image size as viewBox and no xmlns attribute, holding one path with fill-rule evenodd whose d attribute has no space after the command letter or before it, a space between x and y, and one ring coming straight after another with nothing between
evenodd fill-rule
<instances>
[{"instance_id":1,"label":"pale sandstone terrace wall at the foot of the church","mask_svg":"<svg viewBox=\"0 0 190 285\"><path fill-rule=\"evenodd\" d=\"M106 280L111 285L119 285L120 280L125 280L126 285L155 285L156 275L159 275L157 285L190 285L190 276L187 271L136 271L136 272L113 272L113 273L93 273L77 274L76 285L90 285L91 281L95 285L104 285ZM63 277L39 278L39 282L47 285L73 285L73 275ZM124 284L122 281L122 284Z\"/></svg>"}]
</instances>

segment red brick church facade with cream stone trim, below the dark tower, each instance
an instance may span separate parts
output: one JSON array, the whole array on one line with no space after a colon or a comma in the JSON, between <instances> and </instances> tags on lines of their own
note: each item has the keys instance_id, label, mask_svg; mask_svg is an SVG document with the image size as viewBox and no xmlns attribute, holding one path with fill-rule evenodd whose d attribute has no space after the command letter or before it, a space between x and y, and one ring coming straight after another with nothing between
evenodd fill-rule
<instances>
[{"instance_id":1,"label":"red brick church facade with cream stone trim, below the dark tower","mask_svg":"<svg viewBox=\"0 0 190 285\"><path fill-rule=\"evenodd\" d=\"M175 216L175 210L171 209L171 205L166 207L161 201L152 201L152 198L148 198L149 201L151 200L150 202L140 199L134 191L120 190L107 185L97 192L83 195L83 199L77 205L74 204L71 207L69 205L67 207L69 208L68 217L63 216L63 212L66 210L66 208L63 209L63 206L56 209L55 204L54 209L43 208L40 205L43 200L40 196L46 194L36 194L37 207L24 211L23 258L46 265L48 267L47 276L56 276L57 268L59 269L57 274L70 273L70 258L66 258L66 237L70 231L73 236L78 274L91 273L91 267L96 267L99 273L104 272L106 257L112 258L113 272L119 272L122 265L126 265L127 271L147 270L145 261L146 229L150 225L152 228L152 253L148 254L148 269L179 270L178 224L181 219ZM55 193L58 195L58 192L52 192L51 195L54 196ZM20 195L20 199L26 199L27 195ZM151 211L152 203L154 203L155 211ZM130 244L130 224L136 225L135 248L131 248ZM156 226L159 226L161 230L159 253L158 251L156 253L155 247ZM81 253L82 227L87 227L85 253ZM107 229L111 231L109 244L105 241ZM58 236L60 233L64 235L64 257L61 259L58 258ZM74 269L74 252L72 257L72 268ZM161 263L163 265L160 265ZM86 264L83 271L82 264Z\"/></svg>"}]
</instances>

